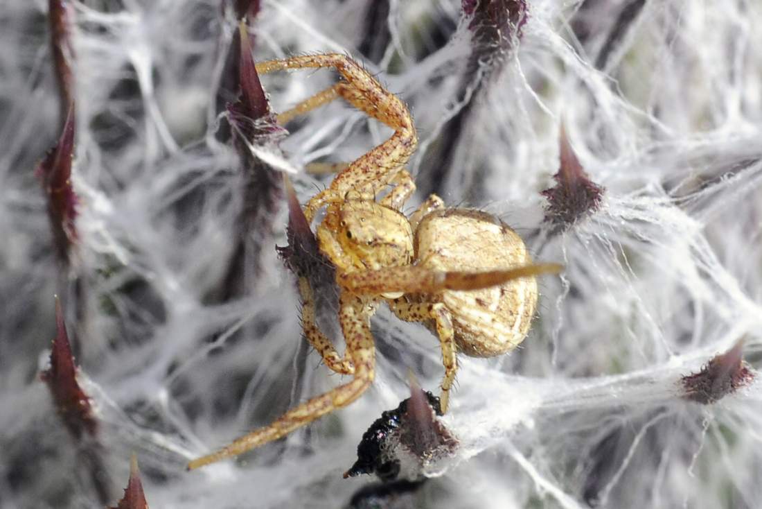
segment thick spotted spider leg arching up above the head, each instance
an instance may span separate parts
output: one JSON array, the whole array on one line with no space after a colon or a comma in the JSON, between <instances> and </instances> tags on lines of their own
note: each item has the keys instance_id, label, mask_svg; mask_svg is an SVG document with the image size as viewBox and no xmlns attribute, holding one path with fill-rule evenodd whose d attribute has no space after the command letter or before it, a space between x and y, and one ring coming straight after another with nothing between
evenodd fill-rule
<instances>
[{"instance_id":1,"label":"thick spotted spider leg arching up above the head","mask_svg":"<svg viewBox=\"0 0 762 509\"><path fill-rule=\"evenodd\" d=\"M330 187L309 200L304 210L307 221L312 222L315 213L324 205L343 200L344 195L352 189L363 195L375 195L376 189L389 184L415 152L418 137L408 108L348 56L339 53L293 56L283 60L261 62L256 67L257 72L261 74L283 69L333 67L346 82L319 92L319 97L314 99L315 104L324 104L331 100L332 94L335 93L355 108L395 130L392 137L350 163L336 176ZM334 92L328 92L331 90ZM307 105L300 111L309 109L311 106Z\"/></svg>"}]
</instances>

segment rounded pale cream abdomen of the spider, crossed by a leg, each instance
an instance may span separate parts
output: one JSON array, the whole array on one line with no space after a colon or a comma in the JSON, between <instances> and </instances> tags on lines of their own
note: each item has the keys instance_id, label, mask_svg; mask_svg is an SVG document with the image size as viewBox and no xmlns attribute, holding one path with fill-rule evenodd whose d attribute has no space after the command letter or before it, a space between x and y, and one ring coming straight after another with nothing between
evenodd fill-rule
<instances>
[{"instance_id":1,"label":"rounded pale cream abdomen of the spider, crossed by a leg","mask_svg":"<svg viewBox=\"0 0 762 509\"><path fill-rule=\"evenodd\" d=\"M482 211L450 208L427 214L415 233L418 265L441 271L511 269L532 263L521 237ZM445 290L435 300L453 317L458 349L475 357L513 350L530 329L537 304L535 278L479 290Z\"/></svg>"}]
</instances>

